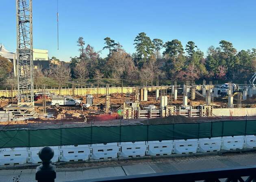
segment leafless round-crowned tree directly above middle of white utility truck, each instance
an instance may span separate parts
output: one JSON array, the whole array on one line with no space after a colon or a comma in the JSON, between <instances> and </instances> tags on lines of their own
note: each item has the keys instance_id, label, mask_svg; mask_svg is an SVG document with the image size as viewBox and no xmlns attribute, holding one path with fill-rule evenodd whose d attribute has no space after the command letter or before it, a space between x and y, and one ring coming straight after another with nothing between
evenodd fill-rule
<instances>
[{"instance_id":1,"label":"leafless round-crowned tree directly above middle of white utility truck","mask_svg":"<svg viewBox=\"0 0 256 182\"><path fill-rule=\"evenodd\" d=\"M52 78L54 78L54 80L58 82L59 89L61 89L65 81L67 81L68 78L70 78L70 72L70 68L67 68L65 66L65 63L63 62L60 65L58 65L54 70L52 70L51 76Z\"/></svg>"}]
</instances>

